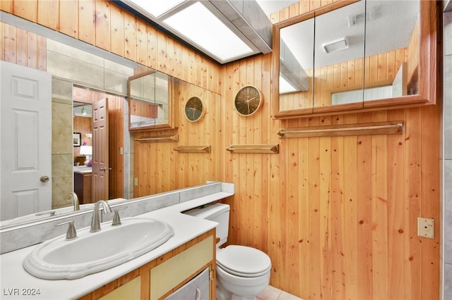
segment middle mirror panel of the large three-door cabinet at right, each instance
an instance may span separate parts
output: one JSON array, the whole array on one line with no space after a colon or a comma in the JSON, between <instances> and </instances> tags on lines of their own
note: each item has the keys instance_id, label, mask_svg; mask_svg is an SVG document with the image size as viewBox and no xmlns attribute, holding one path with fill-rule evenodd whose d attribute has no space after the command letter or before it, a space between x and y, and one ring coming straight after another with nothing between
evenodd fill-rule
<instances>
[{"instance_id":1,"label":"middle mirror panel of the large three-door cabinet at right","mask_svg":"<svg viewBox=\"0 0 452 300\"><path fill-rule=\"evenodd\" d=\"M364 4L359 1L315 18L314 107L362 103L364 21L352 20L364 14Z\"/></svg>"}]
</instances>

